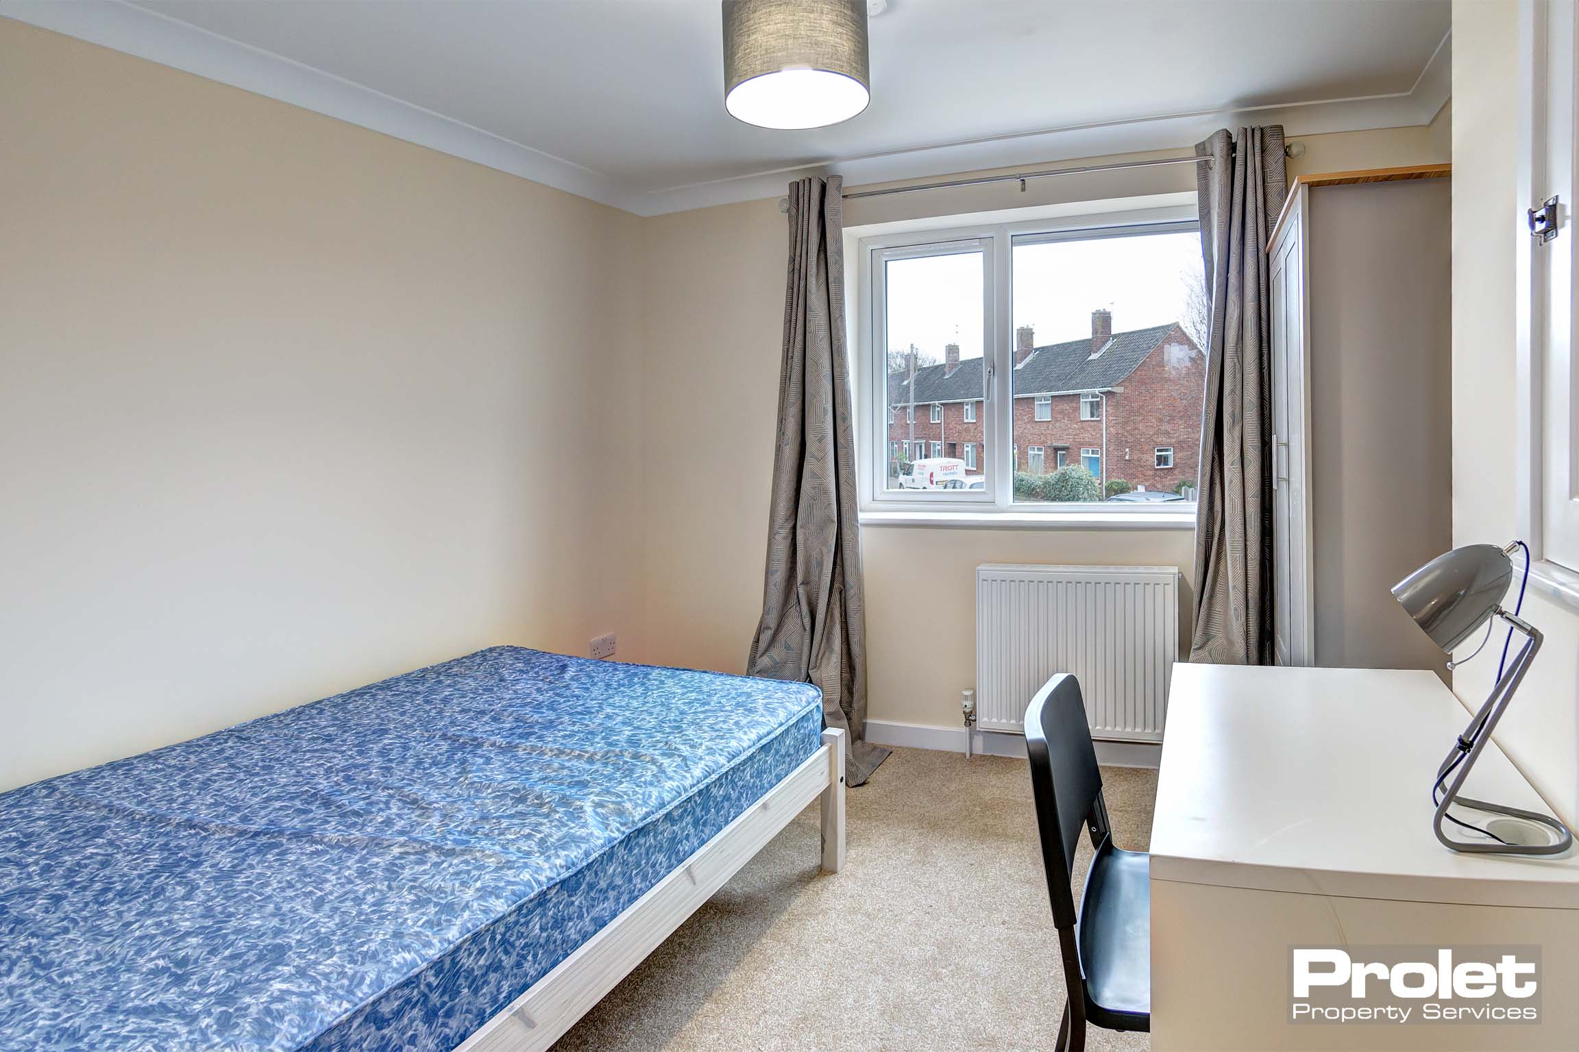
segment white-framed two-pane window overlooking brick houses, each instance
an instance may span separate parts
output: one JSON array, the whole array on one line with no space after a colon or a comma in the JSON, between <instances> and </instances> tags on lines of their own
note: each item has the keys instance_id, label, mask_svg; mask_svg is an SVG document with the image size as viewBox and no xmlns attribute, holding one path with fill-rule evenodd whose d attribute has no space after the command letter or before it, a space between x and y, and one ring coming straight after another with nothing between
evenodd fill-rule
<instances>
[{"instance_id":1,"label":"white-framed two-pane window overlooking brick houses","mask_svg":"<svg viewBox=\"0 0 1579 1052\"><path fill-rule=\"evenodd\" d=\"M1178 502L1107 505L1104 483L1140 470L1131 450L1153 450L1156 464L1157 451L1198 438L1194 211L1168 202L1143 222L1064 216L862 240L851 314L864 319L868 393L862 511L1191 514ZM906 412L891 420L897 407ZM957 453L974 481L919 483L891 464L895 450L911 461Z\"/></svg>"}]
</instances>

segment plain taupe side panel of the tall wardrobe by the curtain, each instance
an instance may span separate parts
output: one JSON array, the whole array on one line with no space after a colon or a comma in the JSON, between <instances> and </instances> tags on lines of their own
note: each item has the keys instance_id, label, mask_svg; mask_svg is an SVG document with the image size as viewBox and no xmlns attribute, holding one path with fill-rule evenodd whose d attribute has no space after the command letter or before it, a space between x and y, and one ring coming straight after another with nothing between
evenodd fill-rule
<instances>
[{"instance_id":1,"label":"plain taupe side panel of the tall wardrobe by the curtain","mask_svg":"<svg viewBox=\"0 0 1579 1052\"><path fill-rule=\"evenodd\" d=\"M1442 651L1388 587L1453 538L1451 191L1448 180L1307 191L1322 666L1446 677Z\"/></svg>"}]
</instances>

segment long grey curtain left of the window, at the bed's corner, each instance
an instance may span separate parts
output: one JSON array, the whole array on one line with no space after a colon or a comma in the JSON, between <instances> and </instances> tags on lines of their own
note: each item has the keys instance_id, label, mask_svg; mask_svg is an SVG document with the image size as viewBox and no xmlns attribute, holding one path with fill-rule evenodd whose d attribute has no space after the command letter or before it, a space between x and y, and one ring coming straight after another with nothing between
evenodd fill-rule
<instances>
[{"instance_id":1,"label":"long grey curtain left of the window, at the bed's corner","mask_svg":"<svg viewBox=\"0 0 1579 1052\"><path fill-rule=\"evenodd\" d=\"M843 180L790 185L790 285L763 620L745 670L815 683L850 732L845 781L889 751L865 741L867 640L856 522L856 427L845 355Z\"/></svg>"}]
</instances>

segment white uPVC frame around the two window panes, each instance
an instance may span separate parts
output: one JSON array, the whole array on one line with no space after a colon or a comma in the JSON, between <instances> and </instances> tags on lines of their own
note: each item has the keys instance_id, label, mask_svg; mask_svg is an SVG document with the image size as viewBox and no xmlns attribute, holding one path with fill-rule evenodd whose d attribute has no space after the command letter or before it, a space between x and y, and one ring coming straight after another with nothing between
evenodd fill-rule
<instances>
[{"instance_id":1,"label":"white uPVC frame around the two window panes","mask_svg":"<svg viewBox=\"0 0 1579 1052\"><path fill-rule=\"evenodd\" d=\"M1131 199L1113 211L1058 215L1009 224L962 226L952 229L913 230L903 224L895 233L851 238L854 256L848 260L857 276L850 300L850 345L857 377L857 451L861 465L861 520L868 525L1003 525L1003 527L1069 527L1069 528L1187 528L1195 525L1192 502L1168 503L1017 503L1014 473L1018 468L1018 443L1014 442L1014 244L1023 241L1090 240L1107 237L1143 237L1198 230L1194 194L1170 194L1156 199ZM944 252L982 252L982 347L985 355L985 390L977 413L982 426L981 461L984 487L976 491L906 491L887 489L884 459L887 431L878 442L875 421L886 420L887 355L886 347L884 267L894 259L936 256ZM1009 456L996 453L1009 450Z\"/></svg>"}]
</instances>

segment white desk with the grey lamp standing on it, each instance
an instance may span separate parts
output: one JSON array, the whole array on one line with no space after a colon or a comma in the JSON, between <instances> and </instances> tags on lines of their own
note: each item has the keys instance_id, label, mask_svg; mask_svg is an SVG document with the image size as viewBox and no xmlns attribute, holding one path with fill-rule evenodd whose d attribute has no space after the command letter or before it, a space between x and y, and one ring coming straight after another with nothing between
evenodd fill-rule
<instances>
[{"instance_id":1,"label":"white desk with the grey lamp standing on it","mask_svg":"<svg viewBox=\"0 0 1579 1052\"><path fill-rule=\"evenodd\" d=\"M1431 672L1173 667L1153 1049L1579 1049L1579 858L1461 855L1432 834L1431 784L1467 722ZM1495 746L1465 792L1547 811ZM1540 945L1543 1022L1288 1022L1292 946L1405 943Z\"/></svg>"}]
</instances>

